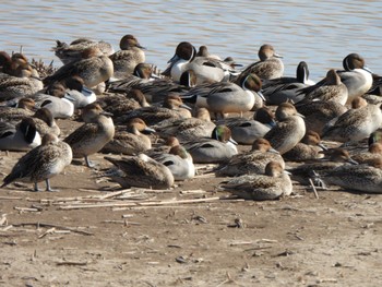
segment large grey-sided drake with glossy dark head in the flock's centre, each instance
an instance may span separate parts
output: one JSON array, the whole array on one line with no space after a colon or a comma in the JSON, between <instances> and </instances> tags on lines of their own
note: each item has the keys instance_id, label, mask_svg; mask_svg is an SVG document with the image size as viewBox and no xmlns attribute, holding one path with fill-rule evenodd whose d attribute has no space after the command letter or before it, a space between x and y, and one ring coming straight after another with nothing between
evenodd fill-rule
<instances>
[{"instance_id":1,"label":"large grey-sided drake with glossy dark head in the flock's centre","mask_svg":"<svg viewBox=\"0 0 382 287\"><path fill-rule=\"evenodd\" d=\"M224 113L250 111L256 101L262 106L261 80L255 74L242 77L240 84L219 82L192 87L182 96L184 101L204 107L224 118Z\"/></svg>"}]
</instances>

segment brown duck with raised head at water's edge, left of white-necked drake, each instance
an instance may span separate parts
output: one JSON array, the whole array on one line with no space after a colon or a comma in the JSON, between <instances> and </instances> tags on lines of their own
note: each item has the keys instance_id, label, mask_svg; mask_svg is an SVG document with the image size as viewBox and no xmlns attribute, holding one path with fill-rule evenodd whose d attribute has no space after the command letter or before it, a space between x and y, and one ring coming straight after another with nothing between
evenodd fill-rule
<instances>
[{"instance_id":1,"label":"brown duck with raised head at water's edge, left of white-necked drake","mask_svg":"<svg viewBox=\"0 0 382 287\"><path fill-rule=\"evenodd\" d=\"M133 35L124 35L119 43L120 50L110 55L115 72L110 81L128 77L133 74L136 64L146 60L144 47Z\"/></svg>"}]
</instances>

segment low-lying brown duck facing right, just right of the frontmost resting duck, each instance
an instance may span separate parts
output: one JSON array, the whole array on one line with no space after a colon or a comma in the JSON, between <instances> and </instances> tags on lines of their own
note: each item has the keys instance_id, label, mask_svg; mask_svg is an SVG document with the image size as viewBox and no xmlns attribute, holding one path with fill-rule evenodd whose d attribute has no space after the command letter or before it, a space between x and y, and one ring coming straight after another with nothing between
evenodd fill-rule
<instances>
[{"instance_id":1,"label":"low-lying brown duck facing right, just right of the frontmost resting duck","mask_svg":"<svg viewBox=\"0 0 382 287\"><path fill-rule=\"evenodd\" d=\"M310 184L309 180L312 180L314 186L325 188L318 175L331 172L331 170L342 165L358 166L358 163L351 158L349 152L344 148L330 148L321 153L324 155L323 158L288 169L291 172L291 178L306 186Z\"/></svg>"}]
</instances>

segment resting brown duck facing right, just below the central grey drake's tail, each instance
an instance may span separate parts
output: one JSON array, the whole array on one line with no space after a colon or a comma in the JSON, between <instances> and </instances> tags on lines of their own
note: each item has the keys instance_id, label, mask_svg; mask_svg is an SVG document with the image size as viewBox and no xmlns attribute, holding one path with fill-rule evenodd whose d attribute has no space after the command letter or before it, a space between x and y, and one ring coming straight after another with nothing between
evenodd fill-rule
<instances>
[{"instance_id":1,"label":"resting brown duck facing right, just below the central grey drake's tail","mask_svg":"<svg viewBox=\"0 0 382 287\"><path fill-rule=\"evenodd\" d=\"M191 118L190 109L190 107L183 104L179 95L174 94L165 98L162 107L148 106L134 109L124 116L116 118L115 121L117 123L123 123L132 118L141 118L146 124L153 125L163 120Z\"/></svg>"}]
</instances>

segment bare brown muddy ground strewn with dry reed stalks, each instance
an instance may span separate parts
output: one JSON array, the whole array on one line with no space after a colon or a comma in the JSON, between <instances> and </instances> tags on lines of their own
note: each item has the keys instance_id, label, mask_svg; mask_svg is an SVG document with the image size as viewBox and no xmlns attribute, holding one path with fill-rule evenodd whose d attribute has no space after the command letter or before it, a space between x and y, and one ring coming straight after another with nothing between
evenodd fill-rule
<instances>
[{"instance_id":1,"label":"bare brown muddy ground strewn with dry reed stalks","mask_svg":"<svg viewBox=\"0 0 382 287\"><path fill-rule=\"evenodd\" d=\"M21 155L0 153L1 178ZM240 201L206 168L168 191L121 191L79 164L51 179L59 192L1 189L0 286L382 285L381 195L296 183Z\"/></svg>"}]
</instances>

